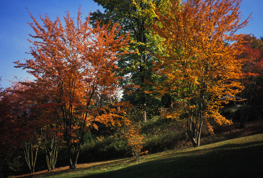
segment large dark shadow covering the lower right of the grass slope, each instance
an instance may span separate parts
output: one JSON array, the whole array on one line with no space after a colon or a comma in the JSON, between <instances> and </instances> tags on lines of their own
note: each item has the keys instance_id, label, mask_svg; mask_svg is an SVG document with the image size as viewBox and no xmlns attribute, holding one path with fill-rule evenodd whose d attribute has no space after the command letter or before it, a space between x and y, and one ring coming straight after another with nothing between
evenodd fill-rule
<instances>
[{"instance_id":1,"label":"large dark shadow covering the lower right of the grass slope","mask_svg":"<svg viewBox=\"0 0 263 178\"><path fill-rule=\"evenodd\" d=\"M262 149L260 141L228 144L81 177L256 177L263 173Z\"/></svg>"}]
</instances>

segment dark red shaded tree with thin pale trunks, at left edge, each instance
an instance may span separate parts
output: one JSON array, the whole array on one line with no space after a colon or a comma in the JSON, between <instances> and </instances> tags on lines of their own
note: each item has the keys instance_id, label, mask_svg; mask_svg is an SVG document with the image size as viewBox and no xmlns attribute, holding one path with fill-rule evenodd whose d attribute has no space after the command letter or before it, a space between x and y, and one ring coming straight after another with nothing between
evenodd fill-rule
<instances>
[{"instance_id":1,"label":"dark red shaded tree with thin pale trunks, at left edge","mask_svg":"<svg viewBox=\"0 0 263 178\"><path fill-rule=\"evenodd\" d=\"M35 171L36 159L40 141L38 140L35 125L35 113L31 109L34 104L29 97L30 87L21 84L19 81L12 82L12 86L6 88L1 95L1 146L6 155L18 151L21 147L24 151L24 158L30 169ZM13 152L13 153L12 153Z\"/></svg>"}]
</instances>

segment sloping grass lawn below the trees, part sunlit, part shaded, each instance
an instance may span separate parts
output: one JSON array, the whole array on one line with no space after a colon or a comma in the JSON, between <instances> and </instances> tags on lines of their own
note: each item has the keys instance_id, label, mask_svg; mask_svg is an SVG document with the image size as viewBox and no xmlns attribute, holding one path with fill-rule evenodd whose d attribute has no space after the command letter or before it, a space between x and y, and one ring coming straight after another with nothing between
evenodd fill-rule
<instances>
[{"instance_id":1,"label":"sloping grass lawn below the trees, part sunlit, part shaded","mask_svg":"<svg viewBox=\"0 0 263 178\"><path fill-rule=\"evenodd\" d=\"M263 134L191 149L79 165L34 177L258 177L263 175Z\"/></svg>"}]
</instances>

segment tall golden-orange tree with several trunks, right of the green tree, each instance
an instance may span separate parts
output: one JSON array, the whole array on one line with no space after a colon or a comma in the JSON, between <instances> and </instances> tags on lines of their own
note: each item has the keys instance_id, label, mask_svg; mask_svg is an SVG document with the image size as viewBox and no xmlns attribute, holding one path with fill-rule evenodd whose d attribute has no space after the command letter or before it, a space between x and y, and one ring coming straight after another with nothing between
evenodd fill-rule
<instances>
[{"instance_id":1,"label":"tall golden-orange tree with several trunks, right of the green tree","mask_svg":"<svg viewBox=\"0 0 263 178\"><path fill-rule=\"evenodd\" d=\"M240 22L240 0L173 1L166 16L158 14L153 26L161 36L166 55L160 55L157 72L168 80L156 89L173 93L183 106L184 122L193 146L200 145L203 124L230 124L219 112L219 98L239 93L240 54L247 25Z\"/></svg>"}]
</instances>

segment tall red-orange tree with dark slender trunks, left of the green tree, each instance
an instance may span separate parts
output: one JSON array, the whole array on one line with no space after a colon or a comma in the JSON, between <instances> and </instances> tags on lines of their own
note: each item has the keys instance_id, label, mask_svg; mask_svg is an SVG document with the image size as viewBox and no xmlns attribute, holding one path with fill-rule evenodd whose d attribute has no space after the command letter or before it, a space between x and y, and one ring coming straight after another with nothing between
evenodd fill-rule
<instances>
[{"instance_id":1,"label":"tall red-orange tree with dark slender trunks, left of the green tree","mask_svg":"<svg viewBox=\"0 0 263 178\"><path fill-rule=\"evenodd\" d=\"M82 21L80 9L76 21L69 12L65 14L64 26L58 17L52 21L47 15L40 16L41 26L30 16L34 22L29 24L36 33L29 35L36 40L29 40L28 53L33 58L15 64L36 78L50 114L62 128L69 165L75 169L84 135L91 127L97 128L95 122L112 119L103 108L117 91L116 62L126 53L129 36L117 36L117 25L109 29L97 23L91 28L89 18Z\"/></svg>"}]
</instances>

